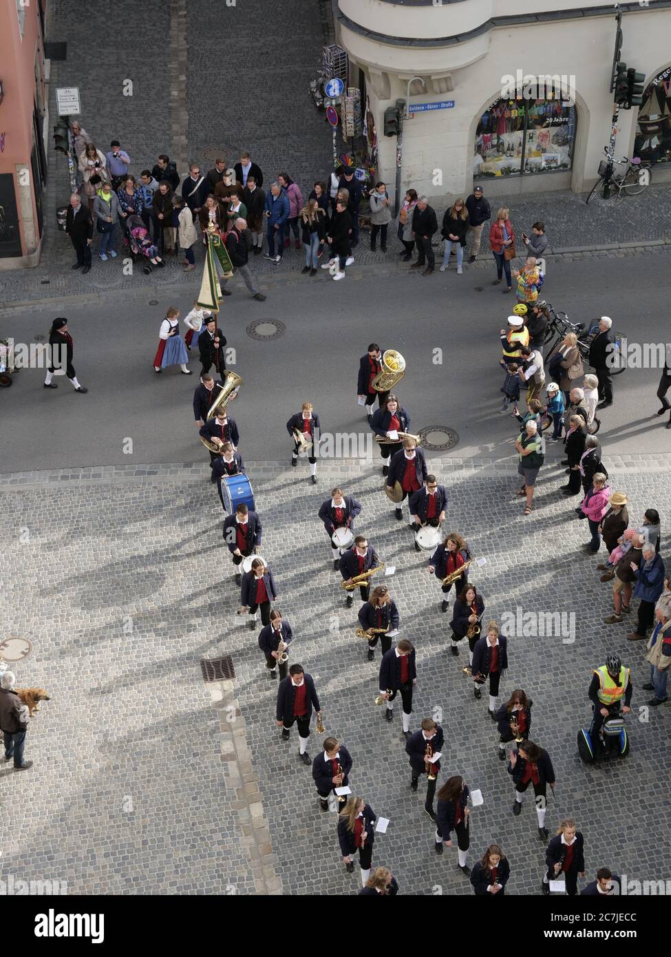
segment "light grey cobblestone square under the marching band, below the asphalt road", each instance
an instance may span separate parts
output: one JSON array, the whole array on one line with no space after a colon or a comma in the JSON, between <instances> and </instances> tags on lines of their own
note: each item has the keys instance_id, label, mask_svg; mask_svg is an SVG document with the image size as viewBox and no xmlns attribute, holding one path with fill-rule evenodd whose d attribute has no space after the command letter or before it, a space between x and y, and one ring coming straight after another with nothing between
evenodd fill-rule
<instances>
[{"instance_id":1,"label":"light grey cobblestone square under the marching band, below the asphalt road","mask_svg":"<svg viewBox=\"0 0 671 957\"><path fill-rule=\"evenodd\" d=\"M579 549L584 527L572 517L574 500L557 493L562 471L541 471L535 511L525 519L512 460L430 465L448 485L447 526L487 559L472 576L486 616L501 619L518 607L576 615L573 643L511 635L502 689L523 687L534 700L533 737L548 748L557 774L550 833L563 816L575 816L590 876L608 864L629 877L663 877L668 836L653 846L647 822L660 814L660 784L670 770L669 709L647 714L643 707L647 667L641 643L625 640L628 623L602 624L609 586ZM633 521L654 506L665 527L668 465L668 456L609 460ZM512 816L486 695L474 701L460 672L463 650L459 658L446 654L449 615L440 614L439 590L422 570L426 557L414 552L405 523L393 520L379 471L334 464L321 470L318 488L303 464L294 471L252 463L249 473L264 523L262 551L296 633L290 660L316 679L327 733L352 753L353 789L391 818L388 835L376 838L375 863L391 867L403 894L471 893L456 871L456 850L441 858L433 851L423 787L418 794L409 788L398 711L387 725L372 701L379 652L368 663L365 643L354 637L358 598L345 609L316 517L336 480L362 501L360 529L396 566L391 594L401 633L417 648L413 727L442 709L438 784L460 773L482 790L471 862L500 842L511 863L510 891L537 893L543 845L532 803ZM26 753L35 764L28 778L0 771L2 878L65 879L69 893L89 894L355 893L358 877L345 873L335 817L318 809L295 730L288 745L280 741L277 685L262 674L257 635L235 616L221 512L205 469L27 473L2 477L0 496L5 630L34 640L33 656L16 666L18 683L52 696L29 731ZM662 545L668 554L667 536ZM588 718L590 669L611 650L633 669L632 750L622 763L585 768L575 735ZM233 657L235 679L204 685L199 658L222 654ZM313 731L313 756L317 747Z\"/></svg>"}]
</instances>

